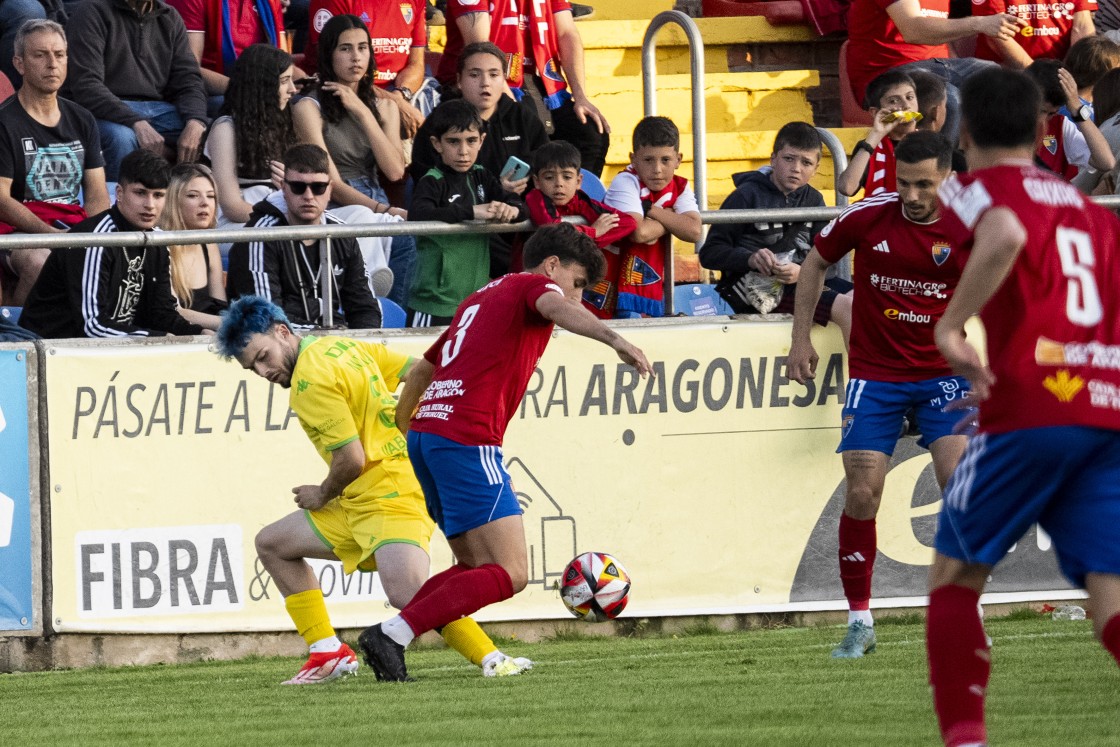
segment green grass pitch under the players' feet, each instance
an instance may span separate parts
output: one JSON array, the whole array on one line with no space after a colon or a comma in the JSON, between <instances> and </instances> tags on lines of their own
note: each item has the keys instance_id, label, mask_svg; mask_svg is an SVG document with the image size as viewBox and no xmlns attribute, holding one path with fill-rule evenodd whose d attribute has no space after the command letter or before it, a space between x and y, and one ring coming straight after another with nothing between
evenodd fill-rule
<instances>
[{"instance_id":1,"label":"green grass pitch under the players' feet","mask_svg":"<svg viewBox=\"0 0 1120 747\"><path fill-rule=\"evenodd\" d=\"M1120 744L1120 669L1090 623L989 619L995 745ZM6 745L935 745L917 615L833 661L839 626L504 641L536 669L486 680L455 652L410 652L418 682L278 683L301 660L0 675ZM142 641L141 641L142 645Z\"/></svg>"}]
</instances>

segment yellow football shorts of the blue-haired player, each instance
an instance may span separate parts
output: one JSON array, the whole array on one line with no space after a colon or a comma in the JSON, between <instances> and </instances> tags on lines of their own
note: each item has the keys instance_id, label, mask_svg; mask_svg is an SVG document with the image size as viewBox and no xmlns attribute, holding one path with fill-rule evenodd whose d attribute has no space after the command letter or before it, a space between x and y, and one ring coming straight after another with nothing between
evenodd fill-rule
<instances>
[{"instance_id":1,"label":"yellow football shorts of the blue-haired player","mask_svg":"<svg viewBox=\"0 0 1120 747\"><path fill-rule=\"evenodd\" d=\"M385 459L368 475L373 483L361 494L343 494L318 511L307 511L308 523L324 544L343 561L346 573L377 570L373 553L385 544L407 542L429 552L436 526L423 492L408 459Z\"/></svg>"}]
</instances>

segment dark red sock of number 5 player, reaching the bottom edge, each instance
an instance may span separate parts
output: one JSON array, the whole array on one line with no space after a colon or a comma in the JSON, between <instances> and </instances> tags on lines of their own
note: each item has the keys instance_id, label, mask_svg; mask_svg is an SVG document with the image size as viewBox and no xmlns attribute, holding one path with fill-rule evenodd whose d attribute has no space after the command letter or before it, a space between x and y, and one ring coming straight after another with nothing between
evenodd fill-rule
<instances>
[{"instance_id":1,"label":"dark red sock of number 5 player, reaching the bottom edge","mask_svg":"<svg viewBox=\"0 0 1120 747\"><path fill-rule=\"evenodd\" d=\"M988 740L983 703L991 656L979 601L980 595L963 586L943 586L930 595L930 684L941 738L949 747Z\"/></svg>"}]
</instances>

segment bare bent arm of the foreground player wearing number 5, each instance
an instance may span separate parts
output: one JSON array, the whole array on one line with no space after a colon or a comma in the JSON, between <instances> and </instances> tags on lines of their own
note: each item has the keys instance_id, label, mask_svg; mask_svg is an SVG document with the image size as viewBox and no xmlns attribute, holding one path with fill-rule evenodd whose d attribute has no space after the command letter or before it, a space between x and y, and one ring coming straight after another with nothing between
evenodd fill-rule
<instances>
[{"instance_id":1,"label":"bare bent arm of the foreground player wearing number 5","mask_svg":"<svg viewBox=\"0 0 1120 747\"><path fill-rule=\"evenodd\" d=\"M937 349L958 374L969 380L977 401L988 399L996 377L964 338L964 324L999 289L1027 241L1026 228L1006 207L988 211L976 227L972 253L933 336Z\"/></svg>"}]
</instances>

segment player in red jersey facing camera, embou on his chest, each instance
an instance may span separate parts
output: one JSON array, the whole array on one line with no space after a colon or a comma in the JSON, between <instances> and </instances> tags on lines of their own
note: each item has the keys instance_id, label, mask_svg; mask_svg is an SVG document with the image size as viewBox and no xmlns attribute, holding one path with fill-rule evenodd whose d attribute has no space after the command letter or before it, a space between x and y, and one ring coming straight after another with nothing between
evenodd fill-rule
<instances>
[{"instance_id":1,"label":"player in red jersey facing camera, embou on his chest","mask_svg":"<svg viewBox=\"0 0 1120 747\"><path fill-rule=\"evenodd\" d=\"M790 377L803 383L816 370L809 330L824 271L849 251L857 253L848 394L837 448L848 484L839 558L849 613L848 634L832 651L836 659L858 659L875 650L875 517L903 417L916 411L918 443L930 449L942 487L965 446L965 437L953 433L958 415L943 408L964 396L967 383L952 375L933 340L933 327L964 267L961 246L948 237L937 207L937 187L949 177L952 151L936 132L903 139L896 150L898 192L844 211L821 230L801 265L788 366Z\"/></svg>"}]
</instances>

